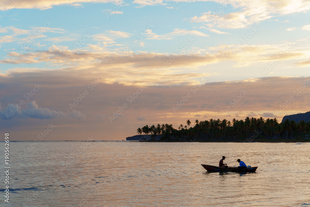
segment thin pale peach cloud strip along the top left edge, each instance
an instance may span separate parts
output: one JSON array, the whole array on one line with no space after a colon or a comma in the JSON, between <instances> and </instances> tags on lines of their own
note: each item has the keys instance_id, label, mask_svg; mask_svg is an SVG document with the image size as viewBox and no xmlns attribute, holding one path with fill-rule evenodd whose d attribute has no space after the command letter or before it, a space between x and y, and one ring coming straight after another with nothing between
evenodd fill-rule
<instances>
[{"instance_id":1,"label":"thin pale peach cloud strip along the top left edge","mask_svg":"<svg viewBox=\"0 0 310 207\"><path fill-rule=\"evenodd\" d=\"M50 9L53 6L67 5L67 6L81 6L80 3L120 3L122 0L58 0L58 1L46 1L46 0L22 0L18 1L15 5L15 9ZM11 5L11 0L0 1L0 10L7 11L10 9L8 5Z\"/></svg>"}]
</instances>

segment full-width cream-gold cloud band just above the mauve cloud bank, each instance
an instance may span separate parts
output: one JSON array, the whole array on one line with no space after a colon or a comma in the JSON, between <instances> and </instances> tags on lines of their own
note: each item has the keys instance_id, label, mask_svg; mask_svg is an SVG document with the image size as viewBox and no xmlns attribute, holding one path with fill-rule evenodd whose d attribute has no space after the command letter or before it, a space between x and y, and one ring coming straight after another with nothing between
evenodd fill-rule
<instances>
[{"instance_id":1,"label":"full-width cream-gold cloud band just above the mauve cloud bank","mask_svg":"<svg viewBox=\"0 0 310 207\"><path fill-rule=\"evenodd\" d=\"M67 67L71 70L96 68L98 72L108 74L103 80L105 83L166 85L184 82L193 83L193 80L197 77L213 76L215 75L214 72L188 72L188 70L221 63L224 60L232 62L232 67L236 68L257 65L259 63L269 64L275 60L277 62L291 60L296 63L290 63L289 66L304 67L308 65L309 57L307 45L299 46L298 42L296 44L284 42L278 45L222 44L216 47L209 47L202 52L198 50L196 53L180 54L122 53L121 49L118 49L119 53L116 51L117 49L113 49L113 52L110 52L98 45L89 45L89 47L83 50L74 51L69 50L68 47L53 45L48 50L38 50L29 53L9 52L7 56L0 60L0 63L32 64L45 62L51 66L50 68L58 66ZM67 58L68 54L70 54L70 58ZM172 58L173 61L171 61ZM64 59L66 61L62 61ZM141 77L144 78L141 79ZM191 81L189 82L188 80Z\"/></svg>"}]
</instances>

